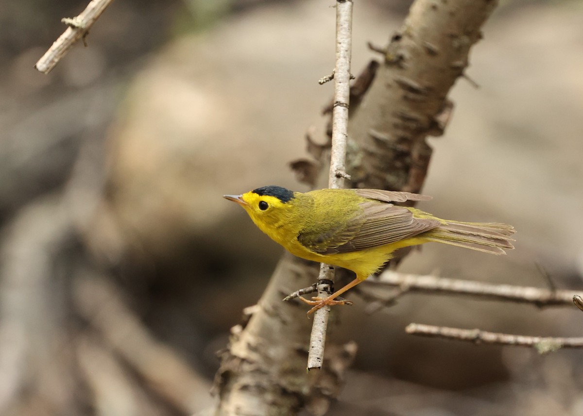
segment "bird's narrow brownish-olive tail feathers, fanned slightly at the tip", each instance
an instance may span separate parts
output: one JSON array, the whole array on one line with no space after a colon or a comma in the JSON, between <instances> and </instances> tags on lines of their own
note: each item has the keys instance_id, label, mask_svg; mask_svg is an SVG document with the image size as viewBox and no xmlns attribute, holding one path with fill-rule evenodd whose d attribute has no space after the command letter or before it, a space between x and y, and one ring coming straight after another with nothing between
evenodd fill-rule
<instances>
[{"instance_id":1,"label":"bird's narrow brownish-olive tail feathers, fanned slightly at the tip","mask_svg":"<svg viewBox=\"0 0 583 416\"><path fill-rule=\"evenodd\" d=\"M443 221L443 220L442 220ZM512 225L501 223L462 223L443 221L441 225L424 233L428 241L436 241L496 255L512 249Z\"/></svg>"}]
</instances>

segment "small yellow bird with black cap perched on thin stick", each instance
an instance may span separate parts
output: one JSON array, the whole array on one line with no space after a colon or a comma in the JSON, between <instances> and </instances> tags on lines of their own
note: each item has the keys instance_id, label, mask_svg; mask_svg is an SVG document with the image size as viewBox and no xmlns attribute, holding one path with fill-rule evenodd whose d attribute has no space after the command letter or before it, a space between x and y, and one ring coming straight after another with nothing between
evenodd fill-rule
<instances>
[{"instance_id":1,"label":"small yellow bird with black cap perched on thin stick","mask_svg":"<svg viewBox=\"0 0 583 416\"><path fill-rule=\"evenodd\" d=\"M430 196L380 189L318 189L293 192L263 186L243 195L224 195L239 203L265 234L287 251L307 260L344 267L356 279L314 307L344 304L338 295L366 280L399 248L435 241L491 254L514 248L514 227L499 223L442 220L421 210L392 202L422 201Z\"/></svg>"}]
</instances>

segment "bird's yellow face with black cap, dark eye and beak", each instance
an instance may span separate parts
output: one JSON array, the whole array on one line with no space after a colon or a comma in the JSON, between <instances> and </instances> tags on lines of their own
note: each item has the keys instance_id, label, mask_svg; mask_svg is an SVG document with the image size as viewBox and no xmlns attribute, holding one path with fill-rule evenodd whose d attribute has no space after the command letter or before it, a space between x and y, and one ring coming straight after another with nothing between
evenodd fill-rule
<instances>
[{"instance_id":1,"label":"bird's yellow face with black cap, dark eye and beak","mask_svg":"<svg viewBox=\"0 0 583 416\"><path fill-rule=\"evenodd\" d=\"M264 186L243 195L224 195L224 198L241 205L255 225L277 241L293 212L295 197L293 192L280 186Z\"/></svg>"}]
</instances>

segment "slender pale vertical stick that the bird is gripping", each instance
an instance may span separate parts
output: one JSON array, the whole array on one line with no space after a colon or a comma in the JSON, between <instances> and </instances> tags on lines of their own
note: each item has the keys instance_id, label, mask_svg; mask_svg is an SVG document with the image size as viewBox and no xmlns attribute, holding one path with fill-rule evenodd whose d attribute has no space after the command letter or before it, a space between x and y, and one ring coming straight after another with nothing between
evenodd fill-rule
<instances>
[{"instance_id":1,"label":"slender pale vertical stick that the bird is gripping","mask_svg":"<svg viewBox=\"0 0 583 416\"><path fill-rule=\"evenodd\" d=\"M350 94L350 55L352 51L352 0L336 0L336 66L334 69L334 107L332 111L332 153L329 188L343 188L346 174L346 139L348 130L348 105ZM331 294L334 268L322 263L318 276L318 296ZM326 327L329 306L314 313L310 336L308 370L321 368L324 359Z\"/></svg>"}]
</instances>

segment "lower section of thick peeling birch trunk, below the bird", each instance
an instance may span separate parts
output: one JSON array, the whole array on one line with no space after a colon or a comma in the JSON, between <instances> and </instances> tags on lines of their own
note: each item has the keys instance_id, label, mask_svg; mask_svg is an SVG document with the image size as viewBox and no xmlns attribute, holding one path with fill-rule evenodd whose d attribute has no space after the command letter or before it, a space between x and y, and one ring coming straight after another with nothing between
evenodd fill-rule
<instances>
[{"instance_id":1,"label":"lower section of thick peeling birch trunk, below the bird","mask_svg":"<svg viewBox=\"0 0 583 416\"><path fill-rule=\"evenodd\" d=\"M297 299L282 301L291 288L316 279L314 264L284 255L258 305L248 311L245 323L231 330L230 346L221 354L215 377L214 390L220 398L217 416L291 415L303 407L324 414L329 400L338 394L356 346L328 346L329 365L308 378L305 360L311 320Z\"/></svg>"}]
</instances>

